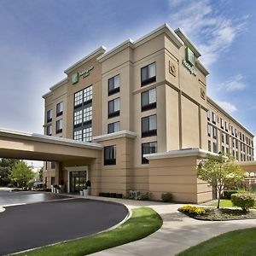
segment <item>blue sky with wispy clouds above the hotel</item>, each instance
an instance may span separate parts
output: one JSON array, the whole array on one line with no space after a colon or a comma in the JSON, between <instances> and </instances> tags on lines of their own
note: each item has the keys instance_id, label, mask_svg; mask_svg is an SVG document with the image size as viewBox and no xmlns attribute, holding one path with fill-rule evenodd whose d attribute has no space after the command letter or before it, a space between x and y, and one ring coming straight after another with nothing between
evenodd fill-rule
<instances>
[{"instance_id":1,"label":"blue sky with wispy clouds above the hotel","mask_svg":"<svg viewBox=\"0 0 256 256\"><path fill-rule=\"evenodd\" d=\"M0 0L0 127L43 133L64 69L167 23L200 49L208 96L256 134L255 14L251 0Z\"/></svg>"}]
</instances>

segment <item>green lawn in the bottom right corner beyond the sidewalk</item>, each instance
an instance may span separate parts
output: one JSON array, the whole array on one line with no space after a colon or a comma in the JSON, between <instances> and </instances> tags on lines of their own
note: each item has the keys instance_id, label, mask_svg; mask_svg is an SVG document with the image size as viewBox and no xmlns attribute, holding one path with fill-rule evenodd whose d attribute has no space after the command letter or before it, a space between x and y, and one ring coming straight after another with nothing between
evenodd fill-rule
<instances>
[{"instance_id":1,"label":"green lawn in the bottom right corner beyond the sidewalk","mask_svg":"<svg viewBox=\"0 0 256 256\"><path fill-rule=\"evenodd\" d=\"M236 230L213 237L195 247L177 254L178 256L255 255L256 228Z\"/></svg>"}]
</instances>

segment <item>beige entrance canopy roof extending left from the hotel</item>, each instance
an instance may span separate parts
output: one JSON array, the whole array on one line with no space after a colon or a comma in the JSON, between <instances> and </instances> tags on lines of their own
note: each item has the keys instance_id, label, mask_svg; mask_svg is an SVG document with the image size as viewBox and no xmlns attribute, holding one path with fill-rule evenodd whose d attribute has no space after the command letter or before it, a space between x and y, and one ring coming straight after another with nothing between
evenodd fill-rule
<instances>
[{"instance_id":1,"label":"beige entrance canopy roof extending left from the hotel","mask_svg":"<svg viewBox=\"0 0 256 256\"><path fill-rule=\"evenodd\" d=\"M66 161L96 158L102 145L0 128L0 158Z\"/></svg>"}]
</instances>

